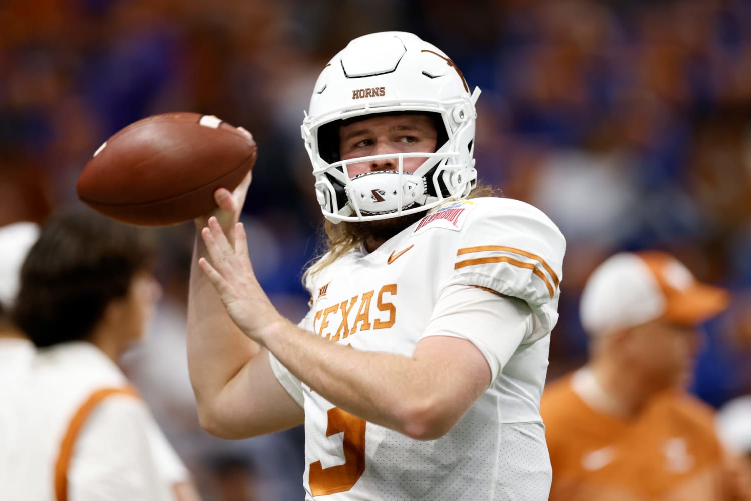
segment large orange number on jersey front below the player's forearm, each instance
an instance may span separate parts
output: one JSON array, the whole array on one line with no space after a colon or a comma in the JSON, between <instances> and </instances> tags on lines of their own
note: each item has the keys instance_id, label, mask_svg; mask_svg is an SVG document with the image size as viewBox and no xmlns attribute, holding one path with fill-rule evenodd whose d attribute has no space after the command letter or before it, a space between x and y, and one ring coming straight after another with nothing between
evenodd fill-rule
<instances>
[{"instance_id":1,"label":"large orange number on jersey front below the player's forearm","mask_svg":"<svg viewBox=\"0 0 751 501\"><path fill-rule=\"evenodd\" d=\"M326 436L344 432L345 463L324 469L321 461L310 463L308 484L310 493L315 496L328 496L346 492L365 472L365 425L366 421L355 418L338 407L329 409Z\"/></svg>"}]
</instances>

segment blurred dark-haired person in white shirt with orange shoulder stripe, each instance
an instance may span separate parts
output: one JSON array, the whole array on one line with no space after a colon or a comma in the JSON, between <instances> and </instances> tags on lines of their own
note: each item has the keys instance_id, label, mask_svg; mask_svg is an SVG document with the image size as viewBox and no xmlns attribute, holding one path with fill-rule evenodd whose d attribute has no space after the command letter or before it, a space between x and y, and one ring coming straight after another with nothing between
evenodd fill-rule
<instances>
[{"instance_id":1,"label":"blurred dark-haired person in white shirt with orange shoulder stripe","mask_svg":"<svg viewBox=\"0 0 751 501\"><path fill-rule=\"evenodd\" d=\"M198 499L188 472L116 361L136 343L159 286L136 228L91 212L53 216L21 269L14 323L38 348L9 406L2 499Z\"/></svg>"}]
</instances>

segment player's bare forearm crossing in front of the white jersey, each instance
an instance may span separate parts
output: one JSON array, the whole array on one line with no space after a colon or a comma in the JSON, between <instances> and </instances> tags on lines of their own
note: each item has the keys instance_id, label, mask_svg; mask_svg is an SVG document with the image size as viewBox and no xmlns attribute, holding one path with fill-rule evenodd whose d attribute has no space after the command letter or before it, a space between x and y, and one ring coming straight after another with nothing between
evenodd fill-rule
<instances>
[{"instance_id":1,"label":"player's bare forearm crossing in front of the white jersey","mask_svg":"<svg viewBox=\"0 0 751 501\"><path fill-rule=\"evenodd\" d=\"M298 379L346 412L415 439L436 439L461 418L442 391L442 375L401 355L331 343L289 322L264 345Z\"/></svg>"}]
</instances>

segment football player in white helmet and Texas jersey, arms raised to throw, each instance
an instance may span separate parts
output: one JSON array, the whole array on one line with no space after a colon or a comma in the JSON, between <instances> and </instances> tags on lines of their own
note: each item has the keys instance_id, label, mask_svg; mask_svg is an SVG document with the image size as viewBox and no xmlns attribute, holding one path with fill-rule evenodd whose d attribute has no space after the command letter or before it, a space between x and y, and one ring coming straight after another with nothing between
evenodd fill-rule
<instances>
[{"instance_id":1,"label":"football player in white helmet and Texas jersey, arms raised to throw","mask_svg":"<svg viewBox=\"0 0 751 501\"><path fill-rule=\"evenodd\" d=\"M302 135L330 245L297 326L237 224L250 177L196 221L201 422L231 439L304 422L307 499L547 499L538 403L565 241L535 207L480 196L478 95L406 32L326 65Z\"/></svg>"}]
</instances>

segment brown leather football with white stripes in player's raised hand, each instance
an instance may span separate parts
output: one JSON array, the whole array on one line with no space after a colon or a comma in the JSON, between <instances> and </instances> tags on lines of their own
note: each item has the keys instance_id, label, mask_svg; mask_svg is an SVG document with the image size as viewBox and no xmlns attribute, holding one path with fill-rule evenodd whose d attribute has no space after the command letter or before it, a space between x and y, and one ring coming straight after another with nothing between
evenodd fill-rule
<instances>
[{"instance_id":1,"label":"brown leather football with white stripes in player's raised hand","mask_svg":"<svg viewBox=\"0 0 751 501\"><path fill-rule=\"evenodd\" d=\"M76 191L98 213L142 226L190 221L216 208L255 164L255 141L212 115L163 113L131 123L94 152Z\"/></svg>"}]
</instances>

